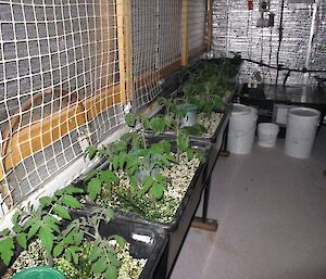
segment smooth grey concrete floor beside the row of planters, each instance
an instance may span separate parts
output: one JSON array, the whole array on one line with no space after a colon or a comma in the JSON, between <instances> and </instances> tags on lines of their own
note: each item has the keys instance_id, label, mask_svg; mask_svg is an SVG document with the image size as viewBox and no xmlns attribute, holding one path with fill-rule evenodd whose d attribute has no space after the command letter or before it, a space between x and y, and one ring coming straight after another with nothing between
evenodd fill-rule
<instances>
[{"instance_id":1,"label":"smooth grey concrete floor beside the row of planters","mask_svg":"<svg viewBox=\"0 0 326 279\"><path fill-rule=\"evenodd\" d=\"M171 279L325 279L324 169L325 127L310 158L287 156L283 139L218 158L209 208L218 230L190 229Z\"/></svg>"}]
</instances>

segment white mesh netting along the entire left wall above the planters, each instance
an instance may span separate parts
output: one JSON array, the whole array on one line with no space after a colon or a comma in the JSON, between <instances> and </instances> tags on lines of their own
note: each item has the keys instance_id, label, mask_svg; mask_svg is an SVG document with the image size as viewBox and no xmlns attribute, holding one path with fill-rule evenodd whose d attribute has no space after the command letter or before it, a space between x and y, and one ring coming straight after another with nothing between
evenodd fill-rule
<instances>
[{"instance_id":1,"label":"white mesh netting along the entire left wall above the planters","mask_svg":"<svg viewBox=\"0 0 326 279\"><path fill-rule=\"evenodd\" d=\"M161 92L180 66L181 1L0 0L0 205L12 207L110 136L125 104Z\"/></svg>"}]
</instances>

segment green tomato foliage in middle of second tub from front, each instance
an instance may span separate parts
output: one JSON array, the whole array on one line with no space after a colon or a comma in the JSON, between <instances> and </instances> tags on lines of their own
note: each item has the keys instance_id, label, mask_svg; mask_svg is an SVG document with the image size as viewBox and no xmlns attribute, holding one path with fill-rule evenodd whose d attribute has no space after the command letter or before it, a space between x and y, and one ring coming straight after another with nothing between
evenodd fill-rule
<instances>
[{"instance_id":1,"label":"green tomato foliage in middle of second tub from front","mask_svg":"<svg viewBox=\"0 0 326 279\"><path fill-rule=\"evenodd\" d=\"M136 134L128 136L137 137ZM110 147L100 149L101 155L103 150L112 149ZM170 154L171 150L171 143L162 140L146 147L134 145L128 151L120 149L120 153L115 153L112 157L105 154L109 168L90 172L84 179L87 182L89 198L95 201L99 195L103 198L103 193L106 193L105 198L109 198L112 185L118 181L114 172L124 170L133 187L133 195L140 196L150 193L154 200L162 199L167 181L160 174L160 169L177 163Z\"/></svg>"}]
</instances>

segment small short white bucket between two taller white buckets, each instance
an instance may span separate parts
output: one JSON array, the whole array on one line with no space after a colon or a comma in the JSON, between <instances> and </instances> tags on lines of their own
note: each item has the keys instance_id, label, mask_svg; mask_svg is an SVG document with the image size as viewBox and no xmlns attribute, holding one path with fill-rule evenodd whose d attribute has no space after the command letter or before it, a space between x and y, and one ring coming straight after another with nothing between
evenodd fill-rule
<instances>
[{"instance_id":1,"label":"small short white bucket between two taller white buckets","mask_svg":"<svg viewBox=\"0 0 326 279\"><path fill-rule=\"evenodd\" d=\"M260 123L258 125L258 144L263 148L274 148L276 145L276 139L279 131L279 127L274 123Z\"/></svg>"}]
</instances>

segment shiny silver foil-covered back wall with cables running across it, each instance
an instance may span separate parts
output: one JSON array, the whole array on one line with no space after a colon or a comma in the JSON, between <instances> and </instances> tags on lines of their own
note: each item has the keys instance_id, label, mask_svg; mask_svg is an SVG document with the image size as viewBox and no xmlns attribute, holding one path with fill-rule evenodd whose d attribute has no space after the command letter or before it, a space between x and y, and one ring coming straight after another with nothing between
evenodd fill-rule
<instances>
[{"instance_id":1,"label":"shiny silver foil-covered back wall with cables running across it","mask_svg":"<svg viewBox=\"0 0 326 279\"><path fill-rule=\"evenodd\" d=\"M293 1L292 1L293 2ZM279 64L289 68L302 68L309 58L309 68L326 69L326 1L316 1L315 28L311 53L309 54L310 36L315 4L289 3L285 1L284 9L284 38L279 52ZM276 66L278 47L278 27L281 1L271 0L269 11L275 13L274 27L256 27L260 17L259 1L253 1L254 9L247 9L244 0L214 1L213 10L213 56L231 56L231 52L239 52L243 58L262 61ZM240 81L251 80L253 73L260 72L263 81L275 84L276 71L259 66L253 63L243 63ZM280 72L278 83L281 84L286 72ZM308 84L314 84L316 73L308 76ZM318 74L326 76L325 74ZM304 80L302 73L291 73L287 85L299 85Z\"/></svg>"}]
</instances>

